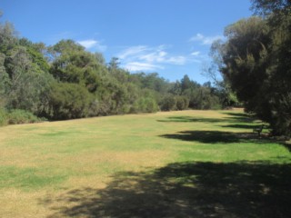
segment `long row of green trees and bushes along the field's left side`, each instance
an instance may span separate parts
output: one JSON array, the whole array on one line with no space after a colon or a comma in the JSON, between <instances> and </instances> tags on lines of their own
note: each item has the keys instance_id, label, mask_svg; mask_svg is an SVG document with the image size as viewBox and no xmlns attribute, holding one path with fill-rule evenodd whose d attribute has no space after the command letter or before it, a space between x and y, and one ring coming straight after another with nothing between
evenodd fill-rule
<instances>
[{"instance_id":1,"label":"long row of green trees and bushes along the field's left side","mask_svg":"<svg viewBox=\"0 0 291 218\"><path fill-rule=\"evenodd\" d=\"M170 83L156 73L130 74L73 40L55 45L19 37L0 23L0 124L43 117L66 120L111 114L217 109L225 94L185 75ZM10 117L10 118L9 118Z\"/></svg>"}]
</instances>

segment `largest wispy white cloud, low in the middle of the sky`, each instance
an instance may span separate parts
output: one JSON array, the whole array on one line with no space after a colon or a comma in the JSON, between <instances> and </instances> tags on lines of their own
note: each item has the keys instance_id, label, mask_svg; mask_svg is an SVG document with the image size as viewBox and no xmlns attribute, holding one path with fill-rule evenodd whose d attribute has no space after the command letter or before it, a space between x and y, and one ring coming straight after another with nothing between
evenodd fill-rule
<instances>
[{"instance_id":1,"label":"largest wispy white cloud, low in the middle of the sky","mask_svg":"<svg viewBox=\"0 0 291 218\"><path fill-rule=\"evenodd\" d=\"M154 71L164 69L167 64L186 64L187 56L168 54L167 48L166 45L138 45L126 48L117 56L130 71Z\"/></svg>"}]
</instances>

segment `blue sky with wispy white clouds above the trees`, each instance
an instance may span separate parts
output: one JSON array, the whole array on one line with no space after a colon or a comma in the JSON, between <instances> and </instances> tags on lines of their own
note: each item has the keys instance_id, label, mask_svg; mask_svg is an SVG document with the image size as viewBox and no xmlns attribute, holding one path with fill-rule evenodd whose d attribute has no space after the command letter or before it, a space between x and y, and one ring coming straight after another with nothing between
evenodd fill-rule
<instances>
[{"instance_id":1,"label":"blue sky with wispy white clouds above the trees","mask_svg":"<svg viewBox=\"0 0 291 218\"><path fill-rule=\"evenodd\" d=\"M199 83L212 42L226 25L252 15L249 0L1 0L2 21L20 36L54 45L73 39L118 57L130 72L184 74Z\"/></svg>"}]
</instances>

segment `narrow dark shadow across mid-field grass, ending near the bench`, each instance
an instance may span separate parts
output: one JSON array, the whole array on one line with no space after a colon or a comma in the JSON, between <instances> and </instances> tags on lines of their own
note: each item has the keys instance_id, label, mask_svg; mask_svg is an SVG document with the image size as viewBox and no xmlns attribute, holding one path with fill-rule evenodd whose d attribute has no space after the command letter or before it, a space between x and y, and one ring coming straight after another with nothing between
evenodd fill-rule
<instances>
[{"instance_id":1,"label":"narrow dark shadow across mid-field grass, ending near the bench","mask_svg":"<svg viewBox=\"0 0 291 218\"><path fill-rule=\"evenodd\" d=\"M199 142L204 144L232 144L232 143L270 143L266 138L257 138L256 134L233 133L223 131L182 131L176 134L162 134L160 137L168 139Z\"/></svg>"}]
</instances>

